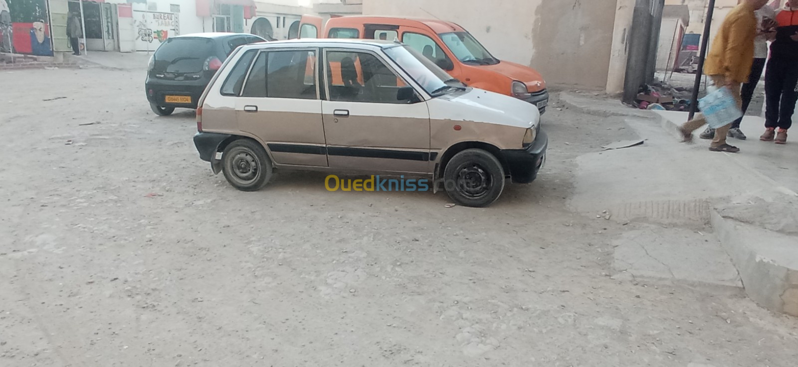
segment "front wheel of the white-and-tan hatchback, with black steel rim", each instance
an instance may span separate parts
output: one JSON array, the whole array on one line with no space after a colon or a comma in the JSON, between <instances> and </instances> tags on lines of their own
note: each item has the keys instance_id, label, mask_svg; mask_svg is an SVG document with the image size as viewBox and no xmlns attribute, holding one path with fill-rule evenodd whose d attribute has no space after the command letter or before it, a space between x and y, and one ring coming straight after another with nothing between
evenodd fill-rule
<instances>
[{"instance_id":1,"label":"front wheel of the white-and-tan hatchback, with black steel rim","mask_svg":"<svg viewBox=\"0 0 798 367\"><path fill-rule=\"evenodd\" d=\"M482 208L504 191L504 168L493 154L467 149L455 154L444 169L444 188L459 205Z\"/></svg>"}]
</instances>

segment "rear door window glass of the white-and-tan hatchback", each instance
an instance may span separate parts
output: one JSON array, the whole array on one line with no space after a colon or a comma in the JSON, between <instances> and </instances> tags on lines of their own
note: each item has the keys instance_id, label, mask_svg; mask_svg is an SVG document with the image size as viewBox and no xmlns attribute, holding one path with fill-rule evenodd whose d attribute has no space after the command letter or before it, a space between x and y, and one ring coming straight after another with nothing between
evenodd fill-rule
<instances>
[{"instance_id":1,"label":"rear door window glass of the white-and-tan hatchback","mask_svg":"<svg viewBox=\"0 0 798 367\"><path fill-rule=\"evenodd\" d=\"M315 51L269 51L255 60L247 85L247 97L315 100Z\"/></svg>"}]
</instances>

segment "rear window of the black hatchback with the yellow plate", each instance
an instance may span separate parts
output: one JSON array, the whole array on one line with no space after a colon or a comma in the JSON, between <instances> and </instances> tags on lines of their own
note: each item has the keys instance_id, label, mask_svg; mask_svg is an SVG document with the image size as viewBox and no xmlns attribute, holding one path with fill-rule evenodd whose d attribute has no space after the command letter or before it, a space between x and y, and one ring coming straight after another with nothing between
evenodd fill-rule
<instances>
[{"instance_id":1,"label":"rear window of the black hatchback with the yellow plate","mask_svg":"<svg viewBox=\"0 0 798 367\"><path fill-rule=\"evenodd\" d=\"M208 57L216 56L209 38L169 38L155 53L156 72L201 72Z\"/></svg>"}]
</instances>

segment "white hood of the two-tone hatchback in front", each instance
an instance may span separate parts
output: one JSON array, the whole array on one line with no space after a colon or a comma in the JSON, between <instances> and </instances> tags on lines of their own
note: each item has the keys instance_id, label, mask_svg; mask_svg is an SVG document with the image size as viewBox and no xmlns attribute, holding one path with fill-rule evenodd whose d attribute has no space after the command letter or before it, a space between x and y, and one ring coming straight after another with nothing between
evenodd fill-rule
<instances>
[{"instance_id":1,"label":"white hood of the two-tone hatchback in front","mask_svg":"<svg viewBox=\"0 0 798 367\"><path fill-rule=\"evenodd\" d=\"M468 88L429 100L430 119L493 123L512 127L535 127L540 121L540 112L535 105L523 100Z\"/></svg>"}]
</instances>

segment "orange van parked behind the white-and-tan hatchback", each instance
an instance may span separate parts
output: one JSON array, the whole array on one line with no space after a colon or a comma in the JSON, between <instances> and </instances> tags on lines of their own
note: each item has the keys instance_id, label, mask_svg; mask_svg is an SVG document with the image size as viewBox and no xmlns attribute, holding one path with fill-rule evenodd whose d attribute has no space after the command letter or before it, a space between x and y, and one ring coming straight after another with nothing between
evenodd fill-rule
<instances>
[{"instance_id":1,"label":"orange van parked behind the white-and-tan hatchback","mask_svg":"<svg viewBox=\"0 0 798 367\"><path fill-rule=\"evenodd\" d=\"M451 21L353 16L330 18L322 25L322 18L305 15L299 37L401 41L469 87L525 100L541 114L548 105L546 81L539 72L493 57L471 33Z\"/></svg>"}]
</instances>

